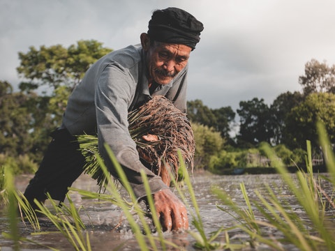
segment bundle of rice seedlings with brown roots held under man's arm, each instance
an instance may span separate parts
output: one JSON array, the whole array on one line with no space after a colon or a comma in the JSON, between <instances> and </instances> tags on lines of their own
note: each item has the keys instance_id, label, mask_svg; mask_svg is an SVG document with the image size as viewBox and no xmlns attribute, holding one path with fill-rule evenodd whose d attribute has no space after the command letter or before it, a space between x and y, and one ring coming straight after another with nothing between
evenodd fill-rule
<instances>
[{"instance_id":1,"label":"bundle of rice seedlings with brown roots held under man's arm","mask_svg":"<svg viewBox=\"0 0 335 251\"><path fill-rule=\"evenodd\" d=\"M141 107L129 112L128 130L135 141L140 159L170 185L171 171L177 179L179 155L193 169L195 141L191 124L186 114L174 107L172 102L163 96L154 96ZM157 140L147 141L145 135L156 135ZM101 187L106 179L96 161L98 138L96 135L80 135L77 137L82 154L86 158L84 172L91 175Z\"/></svg>"}]
</instances>

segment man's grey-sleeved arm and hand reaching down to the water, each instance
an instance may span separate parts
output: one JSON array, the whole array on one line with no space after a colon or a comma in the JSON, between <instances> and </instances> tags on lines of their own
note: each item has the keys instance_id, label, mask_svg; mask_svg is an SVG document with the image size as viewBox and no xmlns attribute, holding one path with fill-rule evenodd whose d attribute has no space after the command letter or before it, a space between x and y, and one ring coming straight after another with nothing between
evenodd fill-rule
<instances>
[{"instance_id":1,"label":"man's grey-sleeved arm and hand reaching down to the water","mask_svg":"<svg viewBox=\"0 0 335 251\"><path fill-rule=\"evenodd\" d=\"M163 229L166 231L188 228L187 211L184 204L156 176L142 165L136 145L128 131L128 104L135 91L128 73L122 68L108 67L99 79L96 90L96 116L98 124L99 151L113 176L117 174L103 146L106 142L131 183L137 198L144 197L145 190L140 169L146 173L154 203ZM112 84L110 84L112 83Z\"/></svg>"}]
</instances>

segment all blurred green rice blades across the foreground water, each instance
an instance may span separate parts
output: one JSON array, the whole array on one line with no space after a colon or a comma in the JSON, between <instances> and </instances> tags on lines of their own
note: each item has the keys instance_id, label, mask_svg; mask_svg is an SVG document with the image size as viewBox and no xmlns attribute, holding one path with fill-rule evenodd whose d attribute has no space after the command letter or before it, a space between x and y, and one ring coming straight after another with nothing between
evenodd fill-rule
<instances>
[{"instance_id":1,"label":"all blurred green rice blades across the foreground water","mask_svg":"<svg viewBox=\"0 0 335 251\"><path fill-rule=\"evenodd\" d=\"M179 197L184 201L188 207L188 212L191 215L191 224L194 231L188 231L193 238L193 248L199 250L257 250L260 245L268 246L273 250L285 250L285 245L294 245L298 250L335 250L335 220L334 215L327 215L327 211L335 210L334 197L332 192L335 188L335 158L332 152L332 147L327 140L325 128L318 124L318 132L320 135L320 143L325 155L327 163L327 176L321 174L313 174L313 167L311 165L311 144L307 142L307 156L306 169L307 172L299 170L295 176L289 174L285 166L278 161L278 158L271 152L271 148L265 146L265 151L269 158L276 160L276 169L281 175L286 187L290 193L297 199L301 208L306 213L306 218L302 219L295 213L289 204L278 200L278 195L274 195L273 190L267 187L267 194L261 194L255 190L257 200L251 200L248 197L248 191L244 183L240 184L241 192L244 195L245 205L236 204L221 188L212 188L213 193L222 201L224 206L218 206L223 212L229 213L236 219L236 225L230 228L220 227L211 234L205 234L204 224L200 214L197 201L195 199L195 192L192 187L191 178L188 175L185 165L181 165L184 173L184 183L188 188L188 197L191 202L186 199L186 195L181 191L177 183L174 186L177 188ZM91 199L99 198L100 200L110 201L112 204L119 206L129 224L138 243L140 250L170 250L182 249L174 243L165 240L160 222L156 216L153 207L153 199L149 191L149 185L146 177L144 178L144 185L147 190L149 205L151 206L151 214L143 211L137 203L133 191L127 181L121 166L117 163L113 153L108 149L110 158L117 167L117 172L124 184L127 192L131 195L131 201L126 201L119 195L119 190L114 182L108 182L106 187L109 195L101 195L98 193L87 192L84 190L76 190L84 197ZM179 156L180 157L180 156ZM101 168L105 173L106 178L110 178L103 161L97 156ZM184 163L181 161L181 163ZM23 195L15 189L14 178L6 167L0 169L0 188L1 188L1 207L6 210L8 218L9 229L3 232L2 235L13 241L13 250L20 250L20 243L32 242L29 238L20 236L20 231L17 227L17 215L20 211L24 217L25 222L29 222L27 227L35 229L37 233L43 231L38 223L38 218L34 211L27 206ZM172 180L174 180L172 178ZM322 182L327 181L332 186L332 192L326 192L322 188ZM329 191L329 190L327 190ZM52 200L51 200L52 201ZM43 204L38 204L39 211L45 215L50 222L58 229L58 231L68 240L74 250L91 250L91 243L89 234L87 232L84 222L80 219L80 208L75 208L73 201L68 196L68 204L63 204L61 207L57 203L52 202L52 208L47 208ZM54 213L56 212L56 213ZM134 214L135 212L135 214ZM22 215L22 218L23 218ZM135 220L140 219L140 224ZM258 215L257 217L255 215ZM148 222L148 216L156 226L158 234L152 233L152 228ZM223 219L224 220L224 219ZM312 224L310 224L312 223ZM248 234L248 240L243 243L234 243L230 240L230 231L239 229ZM269 229L281 233L281 238L271 236ZM218 236L221 236L220 241ZM223 238L222 238L223 236ZM224 241L223 241L224 240ZM35 243L38 245L38 243ZM48 247L50 248L50 247ZM116 250L121 247L115 248ZM55 250L54 248L50 248Z\"/></svg>"}]
</instances>

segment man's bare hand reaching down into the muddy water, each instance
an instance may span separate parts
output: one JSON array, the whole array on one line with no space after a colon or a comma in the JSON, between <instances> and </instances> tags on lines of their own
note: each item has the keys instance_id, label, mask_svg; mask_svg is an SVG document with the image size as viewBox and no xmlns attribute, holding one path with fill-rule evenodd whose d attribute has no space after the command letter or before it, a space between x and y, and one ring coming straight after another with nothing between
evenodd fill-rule
<instances>
[{"instance_id":1,"label":"man's bare hand reaching down into the muddy water","mask_svg":"<svg viewBox=\"0 0 335 251\"><path fill-rule=\"evenodd\" d=\"M170 189L156 192L154 204L163 231L188 229L186 207Z\"/></svg>"}]
</instances>

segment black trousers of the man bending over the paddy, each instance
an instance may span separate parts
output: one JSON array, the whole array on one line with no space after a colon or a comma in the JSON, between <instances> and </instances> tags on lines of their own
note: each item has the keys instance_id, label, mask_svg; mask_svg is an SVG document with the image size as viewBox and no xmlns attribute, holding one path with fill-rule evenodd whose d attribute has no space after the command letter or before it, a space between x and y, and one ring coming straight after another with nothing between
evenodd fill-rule
<instances>
[{"instance_id":1,"label":"black trousers of the man bending over the paddy","mask_svg":"<svg viewBox=\"0 0 335 251\"><path fill-rule=\"evenodd\" d=\"M83 171L84 157L76 137L70 135L66 129L55 130L51 136L52 141L40 167L24 192L24 196L34 208L34 199L45 201L47 192L52 199L64 201L68 187Z\"/></svg>"}]
</instances>

